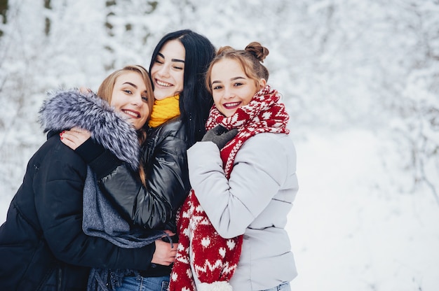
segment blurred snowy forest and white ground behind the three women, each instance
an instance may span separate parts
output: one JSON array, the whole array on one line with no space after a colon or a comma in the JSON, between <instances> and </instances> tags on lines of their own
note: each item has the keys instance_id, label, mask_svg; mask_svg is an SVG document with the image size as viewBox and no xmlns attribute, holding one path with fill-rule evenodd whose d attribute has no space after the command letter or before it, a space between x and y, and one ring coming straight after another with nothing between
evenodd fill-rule
<instances>
[{"instance_id":1,"label":"blurred snowy forest and white ground behind the three women","mask_svg":"<svg viewBox=\"0 0 439 291\"><path fill-rule=\"evenodd\" d=\"M292 290L439 290L438 0L0 1L0 223L46 91L97 90L184 28L270 50L297 147Z\"/></svg>"}]
</instances>

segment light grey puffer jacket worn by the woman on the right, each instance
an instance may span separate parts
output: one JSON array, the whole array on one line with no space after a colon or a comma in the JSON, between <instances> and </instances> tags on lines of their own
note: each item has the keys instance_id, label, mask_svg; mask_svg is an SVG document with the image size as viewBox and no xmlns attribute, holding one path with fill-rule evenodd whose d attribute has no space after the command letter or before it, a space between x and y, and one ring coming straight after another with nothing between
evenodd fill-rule
<instances>
[{"instance_id":1,"label":"light grey puffer jacket worn by the woman on the right","mask_svg":"<svg viewBox=\"0 0 439 291\"><path fill-rule=\"evenodd\" d=\"M229 282L233 290L267 290L292 281L297 270L285 225L299 185L290 136L263 133L245 141L229 180L212 142L189 148L188 161L191 185L213 227L224 238L243 235Z\"/></svg>"}]
</instances>

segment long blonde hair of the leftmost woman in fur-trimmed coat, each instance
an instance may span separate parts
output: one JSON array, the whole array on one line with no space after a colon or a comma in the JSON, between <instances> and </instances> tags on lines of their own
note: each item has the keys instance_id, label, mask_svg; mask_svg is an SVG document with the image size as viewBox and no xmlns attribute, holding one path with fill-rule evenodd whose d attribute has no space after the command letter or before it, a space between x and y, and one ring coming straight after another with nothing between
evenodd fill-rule
<instances>
[{"instance_id":1,"label":"long blonde hair of the leftmost woman in fur-trimmed coat","mask_svg":"<svg viewBox=\"0 0 439 291\"><path fill-rule=\"evenodd\" d=\"M112 104L112 95L113 95L113 89L114 89L114 84L116 83L116 79L127 72L136 72L139 73L140 76L142 76L144 84L147 87L147 97L148 97L147 102L149 106L149 112L151 113L152 106L154 105L154 90L152 89L151 78L149 78L149 73L147 69L144 69L144 67L140 65L128 65L123 67L123 69L116 70L113 73L109 74L109 76L107 76L107 78L105 78L102 81L99 89L97 90L97 96L107 101L108 104ZM149 114L147 121L149 120L150 117L151 114ZM147 124L148 122L145 122L145 125L142 127L142 129L137 130L137 138L139 139L139 143L141 145L147 139L147 133L145 129ZM140 180L142 180L143 185L146 185L146 174L144 171L144 166L142 161L140 161L139 176L140 176Z\"/></svg>"}]
</instances>

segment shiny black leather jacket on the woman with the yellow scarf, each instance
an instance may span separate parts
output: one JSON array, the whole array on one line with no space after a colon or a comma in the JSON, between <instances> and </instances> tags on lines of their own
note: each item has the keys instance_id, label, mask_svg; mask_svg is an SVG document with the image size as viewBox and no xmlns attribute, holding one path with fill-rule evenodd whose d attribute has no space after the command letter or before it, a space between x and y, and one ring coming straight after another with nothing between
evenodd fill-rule
<instances>
[{"instance_id":1,"label":"shiny black leather jacket on the woman with the yellow scarf","mask_svg":"<svg viewBox=\"0 0 439 291\"><path fill-rule=\"evenodd\" d=\"M114 157L101 155L89 165L99 178L101 190L128 221L145 229L176 232L176 211L190 190L187 148L182 122L174 118L150 129L142 146L147 187L142 185L138 173ZM89 151L83 146L77 150L80 155Z\"/></svg>"}]
</instances>

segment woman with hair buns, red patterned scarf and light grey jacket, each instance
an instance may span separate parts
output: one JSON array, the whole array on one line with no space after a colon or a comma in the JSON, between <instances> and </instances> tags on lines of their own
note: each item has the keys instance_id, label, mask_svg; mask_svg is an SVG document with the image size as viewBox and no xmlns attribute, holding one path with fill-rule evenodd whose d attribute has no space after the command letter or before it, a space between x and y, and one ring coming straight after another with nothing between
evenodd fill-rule
<instances>
[{"instance_id":1,"label":"woman with hair buns, red patterned scarf and light grey jacket","mask_svg":"<svg viewBox=\"0 0 439 291\"><path fill-rule=\"evenodd\" d=\"M191 192L178 217L170 290L290 290L285 230L298 190L289 120L262 61L269 50L219 48L206 74L214 106L188 150Z\"/></svg>"}]
</instances>

